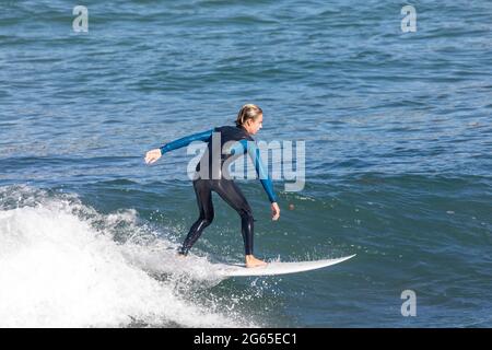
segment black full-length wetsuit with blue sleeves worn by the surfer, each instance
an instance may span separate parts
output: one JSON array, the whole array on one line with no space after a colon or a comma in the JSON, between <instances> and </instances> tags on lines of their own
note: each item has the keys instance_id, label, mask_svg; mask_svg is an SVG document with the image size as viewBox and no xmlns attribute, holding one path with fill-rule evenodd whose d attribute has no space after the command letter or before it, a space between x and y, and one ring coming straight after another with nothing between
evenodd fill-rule
<instances>
[{"instance_id":1,"label":"black full-length wetsuit with blue sleeves worn by the surfer","mask_svg":"<svg viewBox=\"0 0 492 350\"><path fill-rule=\"evenodd\" d=\"M219 138L220 142L218 142ZM253 255L253 211L241 189L230 178L226 168L227 166L224 166L224 163L227 162L227 164L231 164L235 159L247 152L255 164L256 172L270 202L276 202L277 198L273 192L273 186L268 176L268 172L261 162L259 149L255 140L242 127L224 126L166 143L161 148L161 152L164 154L178 148L186 147L192 141L204 141L208 143L208 147L197 165L196 171L198 176L194 180L200 217L191 225L180 248L180 254L188 254L188 250L200 237L203 230L212 222L214 215L212 203L213 190L241 215L245 254ZM226 154L222 154L221 152L224 144L231 145ZM215 156L211 156L213 153ZM216 159L216 155L219 155L219 160Z\"/></svg>"}]
</instances>

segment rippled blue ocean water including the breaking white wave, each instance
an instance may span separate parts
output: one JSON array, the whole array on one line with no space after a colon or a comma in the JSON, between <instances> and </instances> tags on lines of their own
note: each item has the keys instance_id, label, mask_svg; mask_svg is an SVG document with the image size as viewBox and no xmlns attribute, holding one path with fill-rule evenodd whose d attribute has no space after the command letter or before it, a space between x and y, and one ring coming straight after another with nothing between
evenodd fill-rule
<instances>
[{"instance_id":1,"label":"rippled blue ocean water including the breaking white wave","mask_svg":"<svg viewBox=\"0 0 492 350\"><path fill-rule=\"evenodd\" d=\"M87 0L89 32L66 1L0 3L1 327L492 326L490 1L413 1L408 33L400 1ZM239 182L255 254L354 258L223 280L243 243L215 198L176 259L192 155L143 155L245 103L258 140L305 142L279 222Z\"/></svg>"}]
</instances>

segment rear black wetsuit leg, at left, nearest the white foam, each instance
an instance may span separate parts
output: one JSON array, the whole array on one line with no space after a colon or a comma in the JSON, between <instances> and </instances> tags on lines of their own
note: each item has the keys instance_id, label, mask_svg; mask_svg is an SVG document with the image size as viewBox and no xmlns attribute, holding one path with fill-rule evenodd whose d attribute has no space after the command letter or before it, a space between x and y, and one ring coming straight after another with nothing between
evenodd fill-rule
<instances>
[{"instance_id":1,"label":"rear black wetsuit leg, at left, nearest the white foam","mask_svg":"<svg viewBox=\"0 0 492 350\"><path fill-rule=\"evenodd\" d=\"M194 182L197 203L200 210L200 217L189 229L188 235L183 243L179 254L187 255L191 246L200 237L203 230L213 221L212 188L210 179L196 179Z\"/></svg>"}]
</instances>

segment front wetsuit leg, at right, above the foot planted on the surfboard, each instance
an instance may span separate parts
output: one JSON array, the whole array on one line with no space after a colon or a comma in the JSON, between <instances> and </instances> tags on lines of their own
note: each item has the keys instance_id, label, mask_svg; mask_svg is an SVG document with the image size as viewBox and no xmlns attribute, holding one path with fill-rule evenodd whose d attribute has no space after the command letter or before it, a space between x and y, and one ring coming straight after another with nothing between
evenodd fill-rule
<instances>
[{"instance_id":1,"label":"front wetsuit leg, at right, above the foot planted on the surfboard","mask_svg":"<svg viewBox=\"0 0 492 350\"><path fill-rule=\"evenodd\" d=\"M241 217L241 229L246 255L253 255L254 219L248 201L239 187L230 179L213 180L212 189L221 196Z\"/></svg>"}]
</instances>

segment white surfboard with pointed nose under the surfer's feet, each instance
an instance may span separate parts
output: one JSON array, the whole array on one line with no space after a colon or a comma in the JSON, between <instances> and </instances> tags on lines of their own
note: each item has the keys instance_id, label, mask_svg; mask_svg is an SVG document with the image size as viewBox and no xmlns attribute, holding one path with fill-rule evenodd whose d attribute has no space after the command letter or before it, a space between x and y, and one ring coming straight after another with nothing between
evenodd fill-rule
<instances>
[{"instance_id":1,"label":"white surfboard with pointed nose under the surfer's feet","mask_svg":"<svg viewBox=\"0 0 492 350\"><path fill-rule=\"evenodd\" d=\"M315 269L320 269L327 266L342 262L348 260L354 255L344 256L337 259L324 259L314 261L295 261L295 262L268 262L266 266L246 268L245 265L239 264L214 264L216 272L220 276L234 277L234 276L272 276L272 275L285 275L294 272L303 272Z\"/></svg>"}]
</instances>

